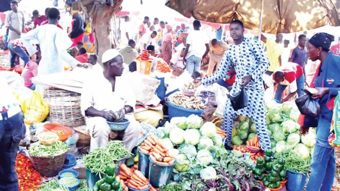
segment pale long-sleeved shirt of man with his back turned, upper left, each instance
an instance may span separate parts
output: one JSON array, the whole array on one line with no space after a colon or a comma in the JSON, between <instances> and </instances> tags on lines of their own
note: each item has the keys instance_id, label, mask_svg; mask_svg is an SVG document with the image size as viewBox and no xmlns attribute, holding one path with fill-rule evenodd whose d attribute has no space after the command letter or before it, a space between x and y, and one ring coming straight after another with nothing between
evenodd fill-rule
<instances>
[{"instance_id":1,"label":"pale long-sleeved shirt of man with his back turned, upper left","mask_svg":"<svg viewBox=\"0 0 340 191\"><path fill-rule=\"evenodd\" d=\"M42 52L42 59L38 67L38 75L64 72L62 60L71 67L75 67L79 61L67 53L67 48L72 45L67 33L54 24L45 24L25 33L21 37L23 45L29 55L37 50L30 43L30 40L37 40Z\"/></svg>"}]
</instances>

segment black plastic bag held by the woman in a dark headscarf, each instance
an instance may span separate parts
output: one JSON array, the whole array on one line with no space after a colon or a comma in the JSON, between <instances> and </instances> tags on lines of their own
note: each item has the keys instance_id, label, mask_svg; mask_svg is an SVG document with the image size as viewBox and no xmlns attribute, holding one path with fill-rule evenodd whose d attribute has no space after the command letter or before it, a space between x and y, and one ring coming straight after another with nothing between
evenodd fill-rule
<instances>
[{"instance_id":1,"label":"black plastic bag held by the woman in a dark headscarf","mask_svg":"<svg viewBox=\"0 0 340 191\"><path fill-rule=\"evenodd\" d=\"M317 117L320 113L320 104L317 100L311 98L309 92L305 92L306 95L302 95L295 100L297 108L302 115L310 117Z\"/></svg>"}]
</instances>

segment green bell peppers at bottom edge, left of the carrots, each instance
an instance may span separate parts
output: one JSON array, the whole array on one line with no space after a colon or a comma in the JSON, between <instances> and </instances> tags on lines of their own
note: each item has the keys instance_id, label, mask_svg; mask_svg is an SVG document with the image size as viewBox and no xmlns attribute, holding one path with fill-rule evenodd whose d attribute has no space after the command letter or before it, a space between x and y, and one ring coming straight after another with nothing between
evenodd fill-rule
<instances>
[{"instance_id":1,"label":"green bell peppers at bottom edge, left of the carrots","mask_svg":"<svg viewBox=\"0 0 340 191\"><path fill-rule=\"evenodd\" d=\"M105 167L105 177L96 182L93 191L127 191L127 187L120 181L119 176L115 176L114 165Z\"/></svg>"}]
</instances>

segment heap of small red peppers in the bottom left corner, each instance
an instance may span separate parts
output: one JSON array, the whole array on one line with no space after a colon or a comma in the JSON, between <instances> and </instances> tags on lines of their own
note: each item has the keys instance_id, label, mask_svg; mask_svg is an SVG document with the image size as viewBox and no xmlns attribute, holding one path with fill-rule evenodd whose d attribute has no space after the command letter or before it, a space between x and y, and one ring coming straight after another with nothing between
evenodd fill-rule
<instances>
[{"instance_id":1,"label":"heap of small red peppers in the bottom left corner","mask_svg":"<svg viewBox=\"0 0 340 191\"><path fill-rule=\"evenodd\" d=\"M31 160L23 154L18 154L15 170L18 174L20 191L36 190L42 182L42 175L33 168Z\"/></svg>"}]
</instances>

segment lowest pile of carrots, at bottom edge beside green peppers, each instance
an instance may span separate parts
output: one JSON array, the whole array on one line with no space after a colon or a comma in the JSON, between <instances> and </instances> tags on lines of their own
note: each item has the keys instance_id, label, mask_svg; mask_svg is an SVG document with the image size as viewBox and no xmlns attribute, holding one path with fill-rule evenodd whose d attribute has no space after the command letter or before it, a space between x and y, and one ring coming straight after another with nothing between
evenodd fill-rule
<instances>
[{"instance_id":1,"label":"lowest pile of carrots, at bottom edge beside green peppers","mask_svg":"<svg viewBox=\"0 0 340 191\"><path fill-rule=\"evenodd\" d=\"M134 189L134 190L145 190L149 188L150 182L141 171L134 165L132 168L127 167L125 164L119 166L120 172L118 177L120 178L121 185ZM123 186L123 188L124 188ZM125 189L125 188L124 188ZM149 191L156 191L153 187Z\"/></svg>"}]
</instances>

